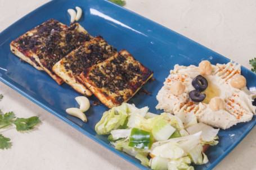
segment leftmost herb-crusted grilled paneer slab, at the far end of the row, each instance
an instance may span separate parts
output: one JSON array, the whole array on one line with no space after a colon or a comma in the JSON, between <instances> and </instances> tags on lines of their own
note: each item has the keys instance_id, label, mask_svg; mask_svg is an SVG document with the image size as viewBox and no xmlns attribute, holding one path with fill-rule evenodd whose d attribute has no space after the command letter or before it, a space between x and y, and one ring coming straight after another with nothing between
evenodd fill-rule
<instances>
[{"instance_id":1,"label":"leftmost herb-crusted grilled paneer slab, at the far end of the row","mask_svg":"<svg viewBox=\"0 0 256 170\"><path fill-rule=\"evenodd\" d=\"M67 25L50 19L11 42L11 52L20 57L21 60L30 63L30 65L38 70L43 70L32 57L33 50L41 45L45 45L47 37L51 35L53 31L61 32L66 29L68 29Z\"/></svg>"}]
</instances>

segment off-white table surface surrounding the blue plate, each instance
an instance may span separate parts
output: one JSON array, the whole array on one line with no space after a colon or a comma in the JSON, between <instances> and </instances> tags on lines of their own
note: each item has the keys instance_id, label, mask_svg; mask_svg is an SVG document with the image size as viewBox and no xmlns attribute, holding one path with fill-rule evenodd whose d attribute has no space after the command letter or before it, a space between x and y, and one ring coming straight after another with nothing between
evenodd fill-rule
<instances>
[{"instance_id":1,"label":"off-white table surface surrounding the blue plate","mask_svg":"<svg viewBox=\"0 0 256 170\"><path fill-rule=\"evenodd\" d=\"M0 32L48 0L0 0ZM127 0L125 8L251 68L256 57L255 0ZM19 28L17 28L19 29ZM1 62L1 61L0 61ZM39 116L29 133L0 130L12 147L0 150L0 169L138 169L0 82L3 112ZM256 169L256 128L214 169Z\"/></svg>"}]
</instances>

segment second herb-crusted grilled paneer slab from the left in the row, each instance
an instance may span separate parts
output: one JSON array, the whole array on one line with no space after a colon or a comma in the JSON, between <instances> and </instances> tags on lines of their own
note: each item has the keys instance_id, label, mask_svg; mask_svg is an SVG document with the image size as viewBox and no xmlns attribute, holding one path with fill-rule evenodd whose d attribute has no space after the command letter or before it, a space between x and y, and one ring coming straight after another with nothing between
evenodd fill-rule
<instances>
[{"instance_id":1,"label":"second herb-crusted grilled paneer slab from the left in the row","mask_svg":"<svg viewBox=\"0 0 256 170\"><path fill-rule=\"evenodd\" d=\"M82 26L75 23L67 30L51 31L51 34L45 40L45 44L33 49L32 57L44 71L58 84L61 84L63 80L52 71L52 67L69 54L71 50L77 49L92 38Z\"/></svg>"}]
</instances>

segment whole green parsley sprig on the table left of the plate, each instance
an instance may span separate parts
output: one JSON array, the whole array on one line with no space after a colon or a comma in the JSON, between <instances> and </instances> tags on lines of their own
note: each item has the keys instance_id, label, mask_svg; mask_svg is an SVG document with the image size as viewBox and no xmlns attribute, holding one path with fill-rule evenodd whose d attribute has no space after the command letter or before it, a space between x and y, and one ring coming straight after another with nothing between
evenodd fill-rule
<instances>
[{"instance_id":1,"label":"whole green parsley sprig on the table left of the plate","mask_svg":"<svg viewBox=\"0 0 256 170\"><path fill-rule=\"evenodd\" d=\"M0 94L0 99L3 98L3 95ZM40 122L37 116L29 118L16 118L14 112L2 113L0 109L0 129L7 126L15 125L17 131L28 131L32 130L35 125ZM0 134L0 149L11 148L10 138Z\"/></svg>"}]
</instances>

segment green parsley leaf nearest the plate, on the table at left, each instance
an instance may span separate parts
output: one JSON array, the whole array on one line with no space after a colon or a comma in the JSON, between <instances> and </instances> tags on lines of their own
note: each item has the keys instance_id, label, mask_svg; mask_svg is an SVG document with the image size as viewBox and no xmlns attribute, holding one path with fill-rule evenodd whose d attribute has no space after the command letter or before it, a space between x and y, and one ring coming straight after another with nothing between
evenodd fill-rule
<instances>
[{"instance_id":1,"label":"green parsley leaf nearest the plate, on the table at left","mask_svg":"<svg viewBox=\"0 0 256 170\"><path fill-rule=\"evenodd\" d=\"M17 118L14 121L14 125L16 125L17 131L27 131L32 129L39 122L39 118L37 116L33 116L30 118Z\"/></svg>"}]
</instances>

